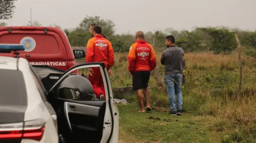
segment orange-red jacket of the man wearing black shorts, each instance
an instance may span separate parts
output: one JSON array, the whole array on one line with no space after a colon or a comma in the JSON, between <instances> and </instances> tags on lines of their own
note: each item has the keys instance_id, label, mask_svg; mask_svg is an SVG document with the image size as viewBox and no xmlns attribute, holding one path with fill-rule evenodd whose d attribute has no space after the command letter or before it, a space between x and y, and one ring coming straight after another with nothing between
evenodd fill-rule
<instances>
[{"instance_id":1,"label":"orange-red jacket of the man wearing black shorts","mask_svg":"<svg viewBox=\"0 0 256 143\"><path fill-rule=\"evenodd\" d=\"M156 62L156 53L153 47L146 41L138 40L131 47L128 55L129 71L133 74L138 70L154 70Z\"/></svg>"}]
</instances>

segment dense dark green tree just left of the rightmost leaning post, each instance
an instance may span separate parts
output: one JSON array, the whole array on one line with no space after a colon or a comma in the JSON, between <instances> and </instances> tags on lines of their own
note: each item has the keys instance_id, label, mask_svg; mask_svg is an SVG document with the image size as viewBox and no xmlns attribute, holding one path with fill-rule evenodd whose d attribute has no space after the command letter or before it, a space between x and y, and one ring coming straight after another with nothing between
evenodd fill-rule
<instances>
[{"instance_id":1,"label":"dense dark green tree just left of the rightmost leaning post","mask_svg":"<svg viewBox=\"0 0 256 143\"><path fill-rule=\"evenodd\" d=\"M234 33L225 28L199 28L203 32L207 32L211 36L210 50L214 54L230 54L236 49L237 43Z\"/></svg>"}]
</instances>

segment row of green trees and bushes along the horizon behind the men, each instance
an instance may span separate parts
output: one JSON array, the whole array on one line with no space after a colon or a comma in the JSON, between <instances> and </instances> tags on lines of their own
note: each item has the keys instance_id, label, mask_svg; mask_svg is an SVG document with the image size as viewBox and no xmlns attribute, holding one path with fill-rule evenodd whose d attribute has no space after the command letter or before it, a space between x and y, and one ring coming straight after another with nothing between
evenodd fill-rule
<instances>
[{"instance_id":1,"label":"row of green trees and bushes along the horizon behind the men","mask_svg":"<svg viewBox=\"0 0 256 143\"><path fill-rule=\"evenodd\" d=\"M103 19L100 16L86 16L77 27L68 30L62 29L68 36L72 46L86 46L91 38L89 28L91 23L98 23L102 28L102 33L108 36L112 42L115 52L127 52L135 42L135 34L116 34L115 23L111 19ZM29 21L25 26L42 26L38 21ZM0 23L7 26L7 23ZM58 27L55 23L50 27ZM245 47L245 54L256 58L256 31L244 31L240 29L230 29L228 27L196 27L192 31L177 31L173 28L166 28L159 31L156 47L165 47L165 36L173 35L176 38L176 45L182 47L185 52L207 52L214 54L230 54L236 50L237 43L234 32L238 32L240 42ZM144 32L145 40L153 43L155 34L152 31Z\"/></svg>"}]
</instances>

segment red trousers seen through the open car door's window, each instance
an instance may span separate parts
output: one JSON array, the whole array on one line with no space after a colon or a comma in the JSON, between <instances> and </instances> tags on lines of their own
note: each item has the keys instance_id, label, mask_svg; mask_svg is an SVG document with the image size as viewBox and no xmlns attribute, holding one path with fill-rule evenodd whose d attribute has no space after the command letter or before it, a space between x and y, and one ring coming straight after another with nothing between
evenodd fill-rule
<instances>
[{"instance_id":1,"label":"red trousers seen through the open car door's window","mask_svg":"<svg viewBox=\"0 0 256 143\"><path fill-rule=\"evenodd\" d=\"M106 69L109 70L109 66L105 65ZM101 76L100 68L99 67L92 67L93 69L93 75L89 75L89 81L93 85L93 91L96 94L96 97L99 99L100 94L102 94L105 97L105 88L103 79ZM106 98L104 99L106 100Z\"/></svg>"}]
</instances>

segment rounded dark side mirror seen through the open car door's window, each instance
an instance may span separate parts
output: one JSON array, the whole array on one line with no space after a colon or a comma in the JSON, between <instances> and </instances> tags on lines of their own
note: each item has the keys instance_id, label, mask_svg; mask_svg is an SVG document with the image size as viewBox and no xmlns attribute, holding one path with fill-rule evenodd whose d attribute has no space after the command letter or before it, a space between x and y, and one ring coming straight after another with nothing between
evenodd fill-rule
<instances>
[{"instance_id":1,"label":"rounded dark side mirror seen through the open car door's window","mask_svg":"<svg viewBox=\"0 0 256 143\"><path fill-rule=\"evenodd\" d=\"M92 101L94 99L93 86L85 77L69 76L61 82L57 97L65 100Z\"/></svg>"}]
</instances>

